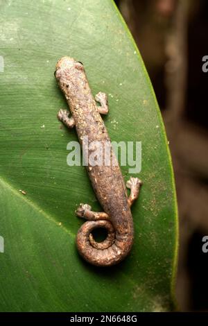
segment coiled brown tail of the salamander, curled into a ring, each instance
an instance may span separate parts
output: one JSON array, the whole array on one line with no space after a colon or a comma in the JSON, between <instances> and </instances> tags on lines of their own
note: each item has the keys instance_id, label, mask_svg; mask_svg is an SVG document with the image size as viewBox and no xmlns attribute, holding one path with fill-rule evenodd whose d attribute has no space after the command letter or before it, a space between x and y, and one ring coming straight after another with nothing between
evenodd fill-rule
<instances>
[{"instance_id":1,"label":"coiled brown tail of the salamander, curled into a ring","mask_svg":"<svg viewBox=\"0 0 208 326\"><path fill-rule=\"evenodd\" d=\"M96 228L107 229L107 238L96 242L92 231ZM112 266L118 264L128 255L132 248L133 234L118 233L110 221L87 221L78 230L76 243L80 255L90 264L96 266Z\"/></svg>"}]
</instances>

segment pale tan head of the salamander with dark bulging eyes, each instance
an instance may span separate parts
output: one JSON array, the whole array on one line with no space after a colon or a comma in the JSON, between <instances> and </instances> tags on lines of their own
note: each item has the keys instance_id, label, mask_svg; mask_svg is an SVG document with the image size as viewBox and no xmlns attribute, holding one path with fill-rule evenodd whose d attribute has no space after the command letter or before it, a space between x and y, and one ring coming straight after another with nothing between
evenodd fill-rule
<instances>
[{"instance_id":1,"label":"pale tan head of the salamander with dark bulging eyes","mask_svg":"<svg viewBox=\"0 0 208 326\"><path fill-rule=\"evenodd\" d=\"M57 64L55 65L55 78L60 78L60 71L66 71L67 74L70 74L70 70L84 70L82 62L76 61L70 57L63 57L58 60ZM72 73L72 71L71 71Z\"/></svg>"}]
</instances>

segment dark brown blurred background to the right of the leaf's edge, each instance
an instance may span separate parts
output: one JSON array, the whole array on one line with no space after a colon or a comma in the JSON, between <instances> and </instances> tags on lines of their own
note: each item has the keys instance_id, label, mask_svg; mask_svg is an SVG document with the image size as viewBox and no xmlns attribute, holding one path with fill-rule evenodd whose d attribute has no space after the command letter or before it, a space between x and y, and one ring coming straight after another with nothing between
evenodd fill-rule
<instances>
[{"instance_id":1,"label":"dark brown blurred background to the right of the leaf's edge","mask_svg":"<svg viewBox=\"0 0 208 326\"><path fill-rule=\"evenodd\" d=\"M171 148L180 218L176 296L208 311L207 0L117 0L153 83Z\"/></svg>"}]
</instances>

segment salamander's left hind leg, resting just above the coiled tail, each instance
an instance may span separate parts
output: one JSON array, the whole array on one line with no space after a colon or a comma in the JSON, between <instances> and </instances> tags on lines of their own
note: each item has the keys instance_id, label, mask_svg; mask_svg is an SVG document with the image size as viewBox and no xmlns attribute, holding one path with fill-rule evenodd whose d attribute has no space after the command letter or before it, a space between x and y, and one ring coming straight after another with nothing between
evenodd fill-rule
<instances>
[{"instance_id":1,"label":"salamander's left hind leg, resting just above the coiled tail","mask_svg":"<svg viewBox=\"0 0 208 326\"><path fill-rule=\"evenodd\" d=\"M76 216L89 221L108 220L109 216L105 212L93 212L92 207L87 204L80 204L76 209Z\"/></svg>"}]
</instances>

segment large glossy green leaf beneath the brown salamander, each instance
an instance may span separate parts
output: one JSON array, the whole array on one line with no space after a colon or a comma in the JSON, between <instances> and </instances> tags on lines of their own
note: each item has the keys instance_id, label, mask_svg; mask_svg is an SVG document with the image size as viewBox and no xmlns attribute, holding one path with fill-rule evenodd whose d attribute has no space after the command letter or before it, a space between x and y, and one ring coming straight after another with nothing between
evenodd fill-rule
<instances>
[{"instance_id":1,"label":"large glossy green leaf beneath the brown salamander","mask_svg":"<svg viewBox=\"0 0 208 326\"><path fill-rule=\"evenodd\" d=\"M0 0L0 10L0 310L173 309L173 169L150 80L121 15L110 0ZM67 166L67 143L77 135L56 118L67 104L53 76L64 55L83 62L93 94L109 94L111 139L142 143L135 243L112 268L90 266L76 251L77 205L101 207L85 167Z\"/></svg>"}]
</instances>

